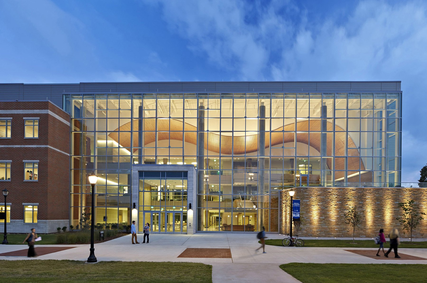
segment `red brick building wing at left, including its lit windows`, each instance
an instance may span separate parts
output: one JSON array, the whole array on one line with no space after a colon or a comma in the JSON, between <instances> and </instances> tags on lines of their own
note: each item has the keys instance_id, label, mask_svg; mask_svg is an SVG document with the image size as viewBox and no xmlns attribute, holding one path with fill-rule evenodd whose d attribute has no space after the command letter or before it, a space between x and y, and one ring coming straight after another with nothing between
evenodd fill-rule
<instances>
[{"instance_id":1,"label":"red brick building wing at left, including its lit windows","mask_svg":"<svg viewBox=\"0 0 427 283\"><path fill-rule=\"evenodd\" d=\"M0 135L8 232L68 227L70 115L51 102L0 102Z\"/></svg>"}]
</instances>

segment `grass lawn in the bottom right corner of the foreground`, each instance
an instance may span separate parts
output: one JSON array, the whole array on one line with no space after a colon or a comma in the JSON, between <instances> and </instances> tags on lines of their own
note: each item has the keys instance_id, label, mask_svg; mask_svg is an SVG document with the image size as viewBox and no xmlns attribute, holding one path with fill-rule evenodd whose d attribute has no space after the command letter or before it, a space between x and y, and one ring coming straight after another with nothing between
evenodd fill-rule
<instances>
[{"instance_id":1,"label":"grass lawn in the bottom right corner of the foreground","mask_svg":"<svg viewBox=\"0 0 427 283\"><path fill-rule=\"evenodd\" d=\"M424 264L288 263L280 265L302 283L426 282ZM422 279L424 278L424 279Z\"/></svg>"}]
</instances>

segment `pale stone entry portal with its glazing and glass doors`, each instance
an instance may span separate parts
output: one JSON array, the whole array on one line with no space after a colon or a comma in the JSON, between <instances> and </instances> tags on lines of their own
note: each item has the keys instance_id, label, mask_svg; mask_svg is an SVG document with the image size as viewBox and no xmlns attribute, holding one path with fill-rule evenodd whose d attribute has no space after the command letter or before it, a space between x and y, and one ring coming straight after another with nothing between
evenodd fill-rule
<instances>
[{"instance_id":1,"label":"pale stone entry portal with its glazing and glass doors","mask_svg":"<svg viewBox=\"0 0 427 283\"><path fill-rule=\"evenodd\" d=\"M196 169L193 165L135 164L132 166L132 220L139 233L196 232Z\"/></svg>"}]
</instances>

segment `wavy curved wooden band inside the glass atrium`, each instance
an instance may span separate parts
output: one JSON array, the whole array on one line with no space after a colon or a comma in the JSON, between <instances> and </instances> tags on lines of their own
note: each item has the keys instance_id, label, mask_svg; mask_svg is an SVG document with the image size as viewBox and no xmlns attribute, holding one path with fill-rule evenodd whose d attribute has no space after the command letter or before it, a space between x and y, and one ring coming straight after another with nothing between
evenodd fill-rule
<instances>
[{"instance_id":1,"label":"wavy curved wooden band inside the glass atrium","mask_svg":"<svg viewBox=\"0 0 427 283\"><path fill-rule=\"evenodd\" d=\"M197 143L197 128L196 126L183 123L180 120L175 119L145 119L144 120L144 146L155 142L155 130L157 121L157 130L158 130L158 140L183 140L183 130L185 132L184 141L187 143L192 143L196 145ZM318 152L321 151L321 134L313 134L313 132L321 130L321 120L310 120L310 125L308 120L297 122L297 131L296 141L298 143L304 143L310 145ZM133 122L132 131L138 131L139 120ZM327 130L333 130L333 124L327 123ZM108 136L119 143L120 145L130 149L131 147L131 122L126 123L120 128L117 128L114 132L110 133ZM286 132L290 131L290 132ZM310 131L310 142L308 140L307 132L299 131ZM294 141L294 132L295 124L286 125L280 128L277 128L271 131L271 146L280 145L282 143L290 143ZM345 157L345 140L347 138L347 132L337 125L335 125L335 156ZM233 143L234 139L234 143ZM327 135L327 156L332 156L332 135ZM266 131L265 133L266 148L269 147L270 143L270 132ZM348 147L355 148L356 145L351 137L347 138ZM220 146L221 145L221 146ZM138 147L138 139L134 135L133 147ZM215 134L213 132L205 133L205 149L208 149L212 152L220 153L221 155L242 155L245 152L256 152L258 150L258 134L253 134L249 136L225 136L220 134ZM135 149L137 150L137 149ZM363 161L360 158L359 151L357 149L348 149L348 170L359 171L365 170ZM360 167L359 167L360 164ZM336 169L345 169L344 158L335 159L335 168ZM332 167L332 160L328 158L327 166L329 169ZM343 175L343 173L339 173ZM337 176L336 178L342 176Z\"/></svg>"}]
</instances>

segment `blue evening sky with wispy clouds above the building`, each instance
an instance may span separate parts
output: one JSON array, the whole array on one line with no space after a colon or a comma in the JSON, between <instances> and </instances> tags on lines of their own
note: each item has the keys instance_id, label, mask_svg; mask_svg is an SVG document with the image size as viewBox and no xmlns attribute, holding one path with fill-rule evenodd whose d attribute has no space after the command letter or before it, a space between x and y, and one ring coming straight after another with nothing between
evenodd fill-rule
<instances>
[{"instance_id":1,"label":"blue evening sky with wispy clouds above the building","mask_svg":"<svg viewBox=\"0 0 427 283\"><path fill-rule=\"evenodd\" d=\"M0 82L400 80L427 163L426 1L0 0Z\"/></svg>"}]
</instances>

